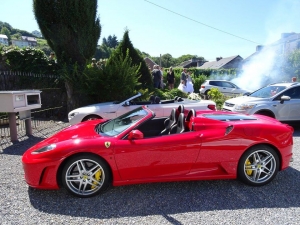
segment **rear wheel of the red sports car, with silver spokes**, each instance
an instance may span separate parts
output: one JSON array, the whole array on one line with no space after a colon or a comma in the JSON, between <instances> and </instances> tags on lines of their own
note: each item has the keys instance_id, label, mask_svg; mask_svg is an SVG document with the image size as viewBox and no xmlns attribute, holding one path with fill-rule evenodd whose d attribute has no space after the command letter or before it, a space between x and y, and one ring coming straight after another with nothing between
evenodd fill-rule
<instances>
[{"instance_id":1,"label":"rear wheel of the red sports car, with silver spokes","mask_svg":"<svg viewBox=\"0 0 300 225\"><path fill-rule=\"evenodd\" d=\"M279 170L277 152L267 145L253 146L241 157L238 178L252 186L263 186L271 182Z\"/></svg>"}]
</instances>

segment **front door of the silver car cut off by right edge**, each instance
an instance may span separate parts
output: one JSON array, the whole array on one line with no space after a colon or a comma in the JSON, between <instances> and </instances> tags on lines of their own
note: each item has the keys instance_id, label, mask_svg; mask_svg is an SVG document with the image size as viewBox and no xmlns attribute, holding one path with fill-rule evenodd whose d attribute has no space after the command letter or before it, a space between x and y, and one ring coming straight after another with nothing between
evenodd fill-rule
<instances>
[{"instance_id":1,"label":"front door of the silver car cut off by right edge","mask_svg":"<svg viewBox=\"0 0 300 225\"><path fill-rule=\"evenodd\" d=\"M289 101L281 102L281 96L289 96ZM276 119L280 121L300 120L300 86L292 87L273 100Z\"/></svg>"}]
</instances>

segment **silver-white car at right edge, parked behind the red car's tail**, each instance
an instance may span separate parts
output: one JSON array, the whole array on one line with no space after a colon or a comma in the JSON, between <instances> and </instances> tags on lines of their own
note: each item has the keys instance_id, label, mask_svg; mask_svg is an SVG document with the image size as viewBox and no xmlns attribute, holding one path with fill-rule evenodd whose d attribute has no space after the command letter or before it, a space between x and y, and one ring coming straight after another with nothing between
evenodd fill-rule
<instances>
[{"instance_id":1,"label":"silver-white car at right edge, parked behind the red car's tail","mask_svg":"<svg viewBox=\"0 0 300 225\"><path fill-rule=\"evenodd\" d=\"M300 83L276 83L224 102L223 110L300 121Z\"/></svg>"}]
</instances>

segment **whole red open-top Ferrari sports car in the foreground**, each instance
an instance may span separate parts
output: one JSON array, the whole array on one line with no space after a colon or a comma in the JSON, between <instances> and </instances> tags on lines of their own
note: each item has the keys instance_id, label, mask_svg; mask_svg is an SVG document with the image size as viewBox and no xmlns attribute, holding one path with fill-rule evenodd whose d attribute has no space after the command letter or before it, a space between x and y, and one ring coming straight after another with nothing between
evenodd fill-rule
<instances>
[{"instance_id":1,"label":"whole red open-top Ferrari sports car in the foreground","mask_svg":"<svg viewBox=\"0 0 300 225\"><path fill-rule=\"evenodd\" d=\"M262 115L146 106L70 126L28 149L26 182L90 197L113 186L239 178L261 186L292 160L293 128Z\"/></svg>"}]
</instances>

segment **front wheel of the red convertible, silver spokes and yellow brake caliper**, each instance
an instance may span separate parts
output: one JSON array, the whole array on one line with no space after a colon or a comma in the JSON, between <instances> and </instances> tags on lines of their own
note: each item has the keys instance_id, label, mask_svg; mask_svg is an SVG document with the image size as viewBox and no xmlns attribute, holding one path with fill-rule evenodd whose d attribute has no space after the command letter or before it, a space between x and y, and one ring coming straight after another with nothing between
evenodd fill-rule
<instances>
[{"instance_id":1,"label":"front wheel of the red convertible, silver spokes and yellow brake caliper","mask_svg":"<svg viewBox=\"0 0 300 225\"><path fill-rule=\"evenodd\" d=\"M61 178L69 193L88 198L107 189L111 183L111 172L103 159L88 154L78 155L64 165Z\"/></svg>"}]
</instances>

